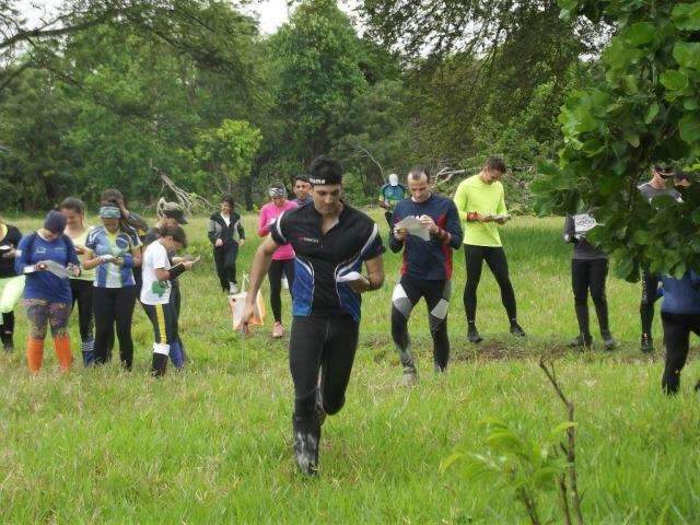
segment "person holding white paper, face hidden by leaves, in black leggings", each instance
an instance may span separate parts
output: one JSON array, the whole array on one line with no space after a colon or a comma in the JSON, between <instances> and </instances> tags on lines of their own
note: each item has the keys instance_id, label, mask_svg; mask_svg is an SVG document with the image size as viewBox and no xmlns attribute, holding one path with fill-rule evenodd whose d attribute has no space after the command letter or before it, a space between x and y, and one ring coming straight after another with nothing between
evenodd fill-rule
<instances>
[{"instance_id":1,"label":"person holding white paper, face hidden by leaves, in black leggings","mask_svg":"<svg viewBox=\"0 0 700 525\"><path fill-rule=\"evenodd\" d=\"M585 235L595 228L596 221L587 213L567 215L563 237L573 243L571 283L573 287L579 336L571 341L572 348L590 348L593 343L588 319L588 290L598 316L600 336L606 350L616 347L608 324L608 302L605 296L605 280L608 275L608 256L586 241Z\"/></svg>"}]
</instances>

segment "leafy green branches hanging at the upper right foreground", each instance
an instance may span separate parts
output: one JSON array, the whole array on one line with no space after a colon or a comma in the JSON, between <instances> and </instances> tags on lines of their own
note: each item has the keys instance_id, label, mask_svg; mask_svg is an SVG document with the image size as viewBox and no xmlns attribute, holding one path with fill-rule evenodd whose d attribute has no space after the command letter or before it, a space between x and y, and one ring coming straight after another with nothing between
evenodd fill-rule
<instances>
[{"instance_id":1,"label":"leafy green branches hanging at the upper right foreground","mask_svg":"<svg viewBox=\"0 0 700 525\"><path fill-rule=\"evenodd\" d=\"M684 203L637 190L653 163L692 167L700 152L700 2L561 1L563 15L616 22L603 54L605 81L576 91L559 117L564 145L544 163L534 190L540 213L591 209L593 240L634 280L641 266L682 276L700 268L697 184Z\"/></svg>"}]
</instances>

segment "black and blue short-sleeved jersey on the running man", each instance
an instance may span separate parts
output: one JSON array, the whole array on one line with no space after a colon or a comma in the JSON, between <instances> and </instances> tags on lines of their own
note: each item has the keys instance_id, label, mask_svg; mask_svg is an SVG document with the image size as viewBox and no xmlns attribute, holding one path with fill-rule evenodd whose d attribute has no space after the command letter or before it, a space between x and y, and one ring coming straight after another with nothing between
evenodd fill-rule
<instances>
[{"instance_id":1,"label":"black and blue short-sleeved jersey on the running man","mask_svg":"<svg viewBox=\"0 0 700 525\"><path fill-rule=\"evenodd\" d=\"M291 244L294 316L351 315L360 322L360 294L337 279L361 271L362 262L384 253L378 228L368 215L345 205L338 223L325 234L314 206L285 211L270 228L278 245Z\"/></svg>"}]
</instances>

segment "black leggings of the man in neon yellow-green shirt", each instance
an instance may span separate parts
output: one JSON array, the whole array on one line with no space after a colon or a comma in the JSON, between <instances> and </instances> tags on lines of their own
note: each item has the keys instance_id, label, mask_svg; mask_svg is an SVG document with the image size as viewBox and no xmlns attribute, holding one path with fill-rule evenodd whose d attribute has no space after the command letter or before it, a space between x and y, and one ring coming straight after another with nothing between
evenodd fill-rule
<instances>
[{"instance_id":1,"label":"black leggings of the man in neon yellow-green shirt","mask_svg":"<svg viewBox=\"0 0 700 525\"><path fill-rule=\"evenodd\" d=\"M467 284L464 287L464 310L467 313L467 322L474 323L477 317L477 288L485 260L501 289L501 301L508 313L508 318L515 320L517 318L515 292L508 275L508 259L503 247L465 244L464 253L467 264Z\"/></svg>"}]
</instances>

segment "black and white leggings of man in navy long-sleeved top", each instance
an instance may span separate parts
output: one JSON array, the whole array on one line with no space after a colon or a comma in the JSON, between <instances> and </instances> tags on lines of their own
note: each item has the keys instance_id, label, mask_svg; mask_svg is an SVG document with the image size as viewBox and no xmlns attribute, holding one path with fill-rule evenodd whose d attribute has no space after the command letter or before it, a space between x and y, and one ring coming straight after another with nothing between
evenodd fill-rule
<instances>
[{"instance_id":1,"label":"black and white leggings of man in navy long-sleeved top","mask_svg":"<svg viewBox=\"0 0 700 525\"><path fill-rule=\"evenodd\" d=\"M408 335L408 319L413 306L421 298L428 306L430 335L433 338L433 363L435 370L444 371L450 360L447 338L447 310L452 293L448 280L424 281L410 276L401 276L392 298L392 338L401 359L401 364L415 370L411 340Z\"/></svg>"}]
</instances>

